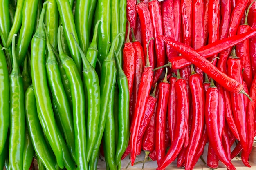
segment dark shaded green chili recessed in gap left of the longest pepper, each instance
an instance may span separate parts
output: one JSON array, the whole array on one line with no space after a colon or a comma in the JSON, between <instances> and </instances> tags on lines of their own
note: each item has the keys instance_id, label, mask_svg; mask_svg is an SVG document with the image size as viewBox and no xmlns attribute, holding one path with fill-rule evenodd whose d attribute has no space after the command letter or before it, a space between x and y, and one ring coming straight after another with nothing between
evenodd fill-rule
<instances>
[{"instance_id":1,"label":"dark shaded green chili recessed in gap left of the longest pepper","mask_svg":"<svg viewBox=\"0 0 256 170\"><path fill-rule=\"evenodd\" d=\"M23 82L23 89L24 92L27 90L28 86L32 83L31 74L29 73L29 56L30 54L27 54L25 57L24 63L23 63L23 71L22 71L22 82Z\"/></svg>"}]
</instances>

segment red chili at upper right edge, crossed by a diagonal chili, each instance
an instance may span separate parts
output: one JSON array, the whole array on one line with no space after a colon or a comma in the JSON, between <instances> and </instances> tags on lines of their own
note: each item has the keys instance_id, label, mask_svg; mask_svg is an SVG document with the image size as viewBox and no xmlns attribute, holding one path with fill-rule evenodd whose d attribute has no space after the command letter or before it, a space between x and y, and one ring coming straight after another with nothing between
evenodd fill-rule
<instances>
[{"instance_id":1,"label":"red chili at upper right edge, crossed by a diagonal chili","mask_svg":"<svg viewBox=\"0 0 256 170\"><path fill-rule=\"evenodd\" d=\"M256 30L256 9L252 11L252 25L251 29ZM252 76L254 77L256 73L256 36L249 39L249 51L250 51L250 60L252 64Z\"/></svg>"}]
</instances>

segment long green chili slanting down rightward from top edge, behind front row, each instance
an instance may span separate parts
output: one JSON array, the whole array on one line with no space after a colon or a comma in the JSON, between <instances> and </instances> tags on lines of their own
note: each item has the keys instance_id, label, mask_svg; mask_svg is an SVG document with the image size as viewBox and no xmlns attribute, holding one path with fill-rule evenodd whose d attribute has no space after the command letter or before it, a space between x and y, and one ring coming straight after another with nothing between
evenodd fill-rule
<instances>
[{"instance_id":1,"label":"long green chili slanting down rightward from top edge, behind front row","mask_svg":"<svg viewBox=\"0 0 256 170\"><path fill-rule=\"evenodd\" d=\"M76 33L76 26L74 23L72 6L70 6L70 2L68 0L56 0L58 5L58 11L61 18L61 23L63 25L64 33L67 38L68 48L71 54L72 59L76 63L79 73L82 73L82 60L79 54L79 51L76 47L76 44L70 35L73 33L76 40L78 39Z\"/></svg>"}]
</instances>

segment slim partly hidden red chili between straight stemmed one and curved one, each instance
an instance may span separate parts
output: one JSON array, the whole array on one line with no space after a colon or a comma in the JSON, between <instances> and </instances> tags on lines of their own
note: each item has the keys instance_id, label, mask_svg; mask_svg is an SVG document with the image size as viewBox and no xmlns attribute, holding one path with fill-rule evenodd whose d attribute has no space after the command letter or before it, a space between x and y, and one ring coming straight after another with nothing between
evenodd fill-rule
<instances>
[{"instance_id":1,"label":"slim partly hidden red chili between straight stemmed one and curved one","mask_svg":"<svg viewBox=\"0 0 256 170\"><path fill-rule=\"evenodd\" d=\"M175 91L175 82L177 77L170 77L170 94L169 101L167 106L167 117L168 117L168 126L170 132L170 140L173 142L174 132L176 128L176 119L177 119L177 94Z\"/></svg>"}]
</instances>

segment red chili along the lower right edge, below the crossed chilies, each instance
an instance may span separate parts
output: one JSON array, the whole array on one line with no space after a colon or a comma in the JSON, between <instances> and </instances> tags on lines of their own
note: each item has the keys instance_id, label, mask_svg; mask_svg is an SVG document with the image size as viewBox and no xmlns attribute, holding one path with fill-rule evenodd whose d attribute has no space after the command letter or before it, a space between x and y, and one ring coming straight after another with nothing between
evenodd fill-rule
<instances>
[{"instance_id":1,"label":"red chili along the lower right edge, below the crossed chilies","mask_svg":"<svg viewBox=\"0 0 256 170\"><path fill-rule=\"evenodd\" d=\"M252 145L255 137L256 130L254 129L254 117L255 117L255 110L256 110L256 76L252 81L252 86L250 88L250 96L252 97L252 101L249 101L248 108L247 108L247 134L248 134L248 148L244 152L242 151L242 161L243 163L248 166L249 155L252 152ZM248 163L248 164L247 164Z\"/></svg>"}]
</instances>

